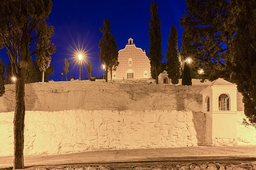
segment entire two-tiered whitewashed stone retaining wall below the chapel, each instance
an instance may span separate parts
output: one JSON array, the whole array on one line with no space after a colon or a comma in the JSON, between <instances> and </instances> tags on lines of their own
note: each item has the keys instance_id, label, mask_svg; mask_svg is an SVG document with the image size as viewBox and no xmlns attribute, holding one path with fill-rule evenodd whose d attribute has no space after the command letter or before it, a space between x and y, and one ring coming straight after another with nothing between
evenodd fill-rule
<instances>
[{"instance_id":1,"label":"entire two-tiered whitewashed stone retaining wall below the chapel","mask_svg":"<svg viewBox=\"0 0 256 170\"><path fill-rule=\"evenodd\" d=\"M209 145L199 93L208 85L141 81L27 84L24 153ZM13 91L14 85L6 85L0 98L0 155L13 154ZM255 128L242 124L239 93L237 110L236 138L214 138L211 145L256 144Z\"/></svg>"}]
</instances>

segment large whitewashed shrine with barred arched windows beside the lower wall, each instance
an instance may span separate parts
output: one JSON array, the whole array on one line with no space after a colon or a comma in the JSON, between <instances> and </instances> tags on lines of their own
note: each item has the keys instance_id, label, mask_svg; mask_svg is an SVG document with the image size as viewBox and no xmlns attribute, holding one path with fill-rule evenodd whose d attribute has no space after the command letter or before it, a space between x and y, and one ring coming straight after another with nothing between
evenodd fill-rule
<instances>
[{"instance_id":1,"label":"large whitewashed shrine with barred arched windows beside the lower wall","mask_svg":"<svg viewBox=\"0 0 256 170\"><path fill-rule=\"evenodd\" d=\"M206 116L206 145L236 144L236 85L219 78L200 93L203 95L202 111Z\"/></svg>"}]
</instances>

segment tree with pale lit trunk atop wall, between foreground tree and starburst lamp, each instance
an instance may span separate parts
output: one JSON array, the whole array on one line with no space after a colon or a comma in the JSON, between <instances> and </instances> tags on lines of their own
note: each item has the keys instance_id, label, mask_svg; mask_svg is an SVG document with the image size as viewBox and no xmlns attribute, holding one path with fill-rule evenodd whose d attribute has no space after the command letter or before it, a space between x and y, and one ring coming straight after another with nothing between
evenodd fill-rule
<instances>
[{"instance_id":1,"label":"tree with pale lit trunk atop wall, between foreground tree and starburst lamp","mask_svg":"<svg viewBox=\"0 0 256 170\"><path fill-rule=\"evenodd\" d=\"M42 82L44 82L44 71L50 67L51 63L51 55L55 52L56 48L54 44L51 42L51 37L53 34L54 27L48 27L46 22L43 21L37 29L40 29L39 34L39 43L37 45L37 48L41 48L44 50L41 50L36 54L36 64L39 68L39 70L42 72ZM49 48L52 47L52 48Z\"/></svg>"}]
</instances>

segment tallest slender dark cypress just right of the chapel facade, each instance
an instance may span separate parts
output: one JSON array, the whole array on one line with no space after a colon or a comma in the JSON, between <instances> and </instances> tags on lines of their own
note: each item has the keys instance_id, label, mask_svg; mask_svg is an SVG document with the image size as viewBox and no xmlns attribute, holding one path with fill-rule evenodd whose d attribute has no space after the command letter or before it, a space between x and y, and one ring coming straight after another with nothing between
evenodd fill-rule
<instances>
[{"instance_id":1,"label":"tallest slender dark cypress just right of the chapel facade","mask_svg":"<svg viewBox=\"0 0 256 170\"><path fill-rule=\"evenodd\" d=\"M156 84L158 84L158 69L163 59L162 55L162 36L161 36L161 19L158 16L158 7L155 1L151 2L150 5L151 18L148 21L149 30L149 51L148 59L150 60L150 71L155 70ZM152 72L151 72L152 74Z\"/></svg>"}]
</instances>

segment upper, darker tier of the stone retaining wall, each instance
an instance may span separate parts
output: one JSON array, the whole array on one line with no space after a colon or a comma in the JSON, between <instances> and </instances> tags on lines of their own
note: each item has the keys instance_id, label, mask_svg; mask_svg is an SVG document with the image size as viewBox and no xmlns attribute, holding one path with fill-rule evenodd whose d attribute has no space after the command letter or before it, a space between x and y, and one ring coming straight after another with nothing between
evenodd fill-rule
<instances>
[{"instance_id":1,"label":"upper, darker tier of the stone retaining wall","mask_svg":"<svg viewBox=\"0 0 256 170\"><path fill-rule=\"evenodd\" d=\"M185 110L202 111L202 95L208 84L156 85L136 82L103 82L89 80L33 83L25 85L26 110ZM5 85L0 97L0 112L14 111L14 85ZM243 110L241 94L238 111Z\"/></svg>"}]
</instances>

